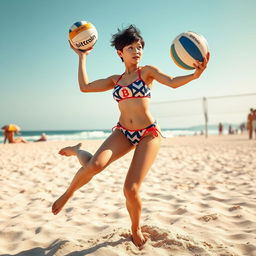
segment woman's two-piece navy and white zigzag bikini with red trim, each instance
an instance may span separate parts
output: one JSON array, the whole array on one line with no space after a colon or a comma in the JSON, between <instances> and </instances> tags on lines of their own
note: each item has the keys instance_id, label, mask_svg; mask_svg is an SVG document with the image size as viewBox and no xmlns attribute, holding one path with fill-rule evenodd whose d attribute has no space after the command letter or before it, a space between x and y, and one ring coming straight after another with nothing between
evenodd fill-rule
<instances>
[{"instance_id":1,"label":"woman's two-piece navy and white zigzag bikini with red trim","mask_svg":"<svg viewBox=\"0 0 256 256\"><path fill-rule=\"evenodd\" d=\"M113 98L117 102L120 102L126 99L131 99L131 98L151 98L151 90L141 78L139 68L138 68L138 78L127 86L118 84L122 76L123 74L118 78L113 90ZM153 136L157 137L159 132L158 129L156 128L156 122L147 126L144 129L139 129L139 130L129 130L118 122L113 129L119 129L126 136L126 138L131 142L131 144L135 146L141 141L141 139L147 133L152 132Z\"/></svg>"}]
</instances>

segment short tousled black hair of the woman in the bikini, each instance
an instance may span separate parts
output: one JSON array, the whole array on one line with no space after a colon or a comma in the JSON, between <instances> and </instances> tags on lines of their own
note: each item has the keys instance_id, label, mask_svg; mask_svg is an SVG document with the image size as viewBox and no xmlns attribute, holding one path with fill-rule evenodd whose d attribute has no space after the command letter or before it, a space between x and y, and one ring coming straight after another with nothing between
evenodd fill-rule
<instances>
[{"instance_id":1,"label":"short tousled black hair of the woman in the bikini","mask_svg":"<svg viewBox=\"0 0 256 256\"><path fill-rule=\"evenodd\" d=\"M140 35L139 29L134 25L130 25L123 30L118 29L118 32L112 35L111 46L114 46L116 50L122 51L125 46L138 41L140 41L142 48L144 48L145 42Z\"/></svg>"}]
</instances>

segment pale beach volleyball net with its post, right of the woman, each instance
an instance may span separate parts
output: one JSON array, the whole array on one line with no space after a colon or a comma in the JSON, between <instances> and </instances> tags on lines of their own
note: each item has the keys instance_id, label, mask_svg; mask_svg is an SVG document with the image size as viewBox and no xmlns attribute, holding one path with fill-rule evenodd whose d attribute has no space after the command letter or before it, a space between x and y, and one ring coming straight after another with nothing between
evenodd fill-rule
<instances>
[{"instance_id":1,"label":"pale beach volleyball net with its post, right of the woman","mask_svg":"<svg viewBox=\"0 0 256 256\"><path fill-rule=\"evenodd\" d=\"M151 111L163 128L204 129L206 123L234 128L247 122L250 108L256 108L256 93L152 102Z\"/></svg>"}]
</instances>

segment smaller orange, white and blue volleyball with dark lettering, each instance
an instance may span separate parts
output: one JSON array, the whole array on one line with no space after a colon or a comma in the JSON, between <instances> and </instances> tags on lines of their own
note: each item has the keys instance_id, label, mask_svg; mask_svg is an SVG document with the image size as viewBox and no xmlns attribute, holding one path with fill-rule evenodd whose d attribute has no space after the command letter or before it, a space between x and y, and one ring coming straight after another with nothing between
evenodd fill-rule
<instances>
[{"instance_id":1,"label":"smaller orange, white and blue volleyball with dark lettering","mask_svg":"<svg viewBox=\"0 0 256 256\"><path fill-rule=\"evenodd\" d=\"M75 22L69 29L70 43L79 50L89 50L98 40L95 26L87 21Z\"/></svg>"}]
</instances>

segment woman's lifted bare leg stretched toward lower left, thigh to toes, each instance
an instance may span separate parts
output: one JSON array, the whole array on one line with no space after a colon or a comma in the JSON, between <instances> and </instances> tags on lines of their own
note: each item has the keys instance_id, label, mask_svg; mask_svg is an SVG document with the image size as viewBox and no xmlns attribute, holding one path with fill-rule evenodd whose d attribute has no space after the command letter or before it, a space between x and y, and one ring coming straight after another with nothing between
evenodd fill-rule
<instances>
[{"instance_id":1,"label":"woman's lifted bare leg stretched toward lower left, thigh to toes","mask_svg":"<svg viewBox=\"0 0 256 256\"><path fill-rule=\"evenodd\" d=\"M115 130L100 146L88 164L78 170L66 192L54 202L52 206L53 214L59 213L74 192L87 184L94 175L133 148L134 146L126 137L119 130Z\"/></svg>"}]
</instances>

